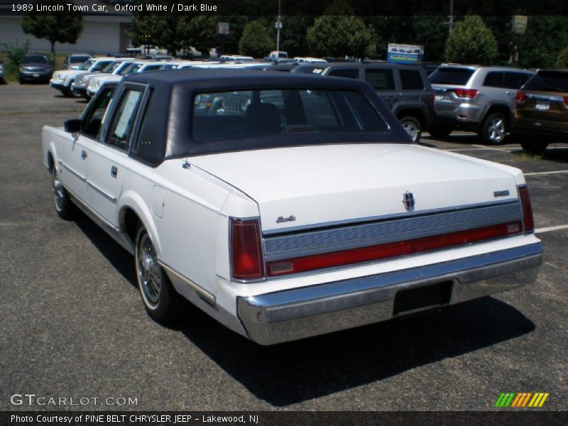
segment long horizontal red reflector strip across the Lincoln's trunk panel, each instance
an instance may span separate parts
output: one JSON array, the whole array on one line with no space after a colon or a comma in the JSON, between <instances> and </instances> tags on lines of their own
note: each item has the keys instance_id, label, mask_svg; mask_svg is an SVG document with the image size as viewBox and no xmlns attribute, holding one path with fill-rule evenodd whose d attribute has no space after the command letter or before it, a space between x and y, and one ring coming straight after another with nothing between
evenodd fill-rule
<instances>
[{"instance_id":1,"label":"long horizontal red reflector strip across the Lincoln's trunk panel","mask_svg":"<svg viewBox=\"0 0 568 426\"><path fill-rule=\"evenodd\" d=\"M466 231L452 232L450 234L427 236L408 241L363 247L361 249L316 254L313 256L287 259L285 261L273 261L267 263L267 271L268 275L273 277L289 273L313 271L315 269L333 268L335 266L376 261L382 258L393 258L411 253L420 253L495 239L502 236L519 234L520 231L520 222L485 226L484 228L468 229Z\"/></svg>"}]
</instances>

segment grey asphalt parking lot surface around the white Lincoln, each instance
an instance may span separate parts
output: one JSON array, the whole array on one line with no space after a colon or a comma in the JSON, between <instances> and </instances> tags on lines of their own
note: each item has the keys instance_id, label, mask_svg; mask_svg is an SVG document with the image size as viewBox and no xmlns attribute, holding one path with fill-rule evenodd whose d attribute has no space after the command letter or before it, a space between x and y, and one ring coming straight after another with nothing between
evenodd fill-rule
<instances>
[{"instance_id":1,"label":"grey asphalt parking lot surface around the white Lincoln","mask_svg":"<svg viewBox=\"0 0 568 426\"><path fill-rule=\"evenodd\" d=\"M501 392L547 392L541 410L567 409L568 146L541 158L472 133L422 138L523 170L545 246L535 285L263 347L191 307L156 324L131 256L89 219L58 219L41 127L84 106L45 85L0 86L0 410L65 408L12 405L16 393L137 401L78 407L89 410L490 410Z\"/></svg>"}]
</instances>

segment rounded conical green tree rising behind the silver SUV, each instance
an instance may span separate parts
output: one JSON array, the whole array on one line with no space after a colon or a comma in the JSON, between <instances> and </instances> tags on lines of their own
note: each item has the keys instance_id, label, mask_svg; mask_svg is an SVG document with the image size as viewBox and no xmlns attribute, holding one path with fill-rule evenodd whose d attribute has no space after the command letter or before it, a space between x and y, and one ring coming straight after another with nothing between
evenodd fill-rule
<instances>
[{"instance_id":1,"label":"rounded conical green tree rising behind the silver SUV","mask_svg":"<svg viewBox=\"0 0 568 426\"><path fill-rule=\"evenodd\" d=\"M480 16L468 15L446 40L446 60L465 64L491 64L497 57L497 41Z\"/></svg>"}]
</instances>

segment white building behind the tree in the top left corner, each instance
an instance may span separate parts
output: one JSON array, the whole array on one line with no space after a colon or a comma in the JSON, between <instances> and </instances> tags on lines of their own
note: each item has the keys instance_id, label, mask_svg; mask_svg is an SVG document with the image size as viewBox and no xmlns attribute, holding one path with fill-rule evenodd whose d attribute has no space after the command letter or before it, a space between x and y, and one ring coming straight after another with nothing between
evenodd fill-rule
<instances>
[{"instance_id":1,"label":"white building behind the tree in the top left corner","mask_svg":"<svg viewBox=\"0 0 568 426\"><path fill-rule=\"evenodd\" d=\"M83 31L77 39L77 43L55 43L58 52L80 52L99 55L113 53L126 53L129 47L129 38L126 36L126 28L132 21L131 13L114 11L114 6L105 4L104 1L73 0L76 5L87 6L89 12L83 13ZM18 3L13 0L0 0L0 50L2 43L23 45L26 40L30 41L30 51L49 51L49 40L35 38L31 34L22 31L22 15L12 12L12 4ZM21 2L23 3L23 2ZM27 2L38 4L40 2ZM94 4L107 6L107 13L94 12Z\"/></svg>"}]
</instances>

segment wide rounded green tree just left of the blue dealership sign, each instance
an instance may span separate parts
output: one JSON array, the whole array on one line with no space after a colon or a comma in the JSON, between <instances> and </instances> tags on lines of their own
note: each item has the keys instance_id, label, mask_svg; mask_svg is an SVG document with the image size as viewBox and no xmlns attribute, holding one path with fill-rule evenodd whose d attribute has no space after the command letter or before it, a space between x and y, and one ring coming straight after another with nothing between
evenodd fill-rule
<instances>
[{"instance_id":1,"label":"wide rounded green tree just left of the blue dealership sign","mask_svg":"<svg viewBox=\"0 0 568 426\"><path fill-rule=\"evenodd\" d=\"M324 15L307 30L307 44L315 55L363 58L371 31L356 16Z\"/></svg>"}]
</instances>

